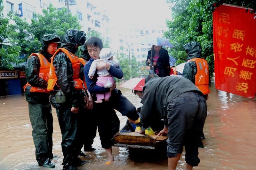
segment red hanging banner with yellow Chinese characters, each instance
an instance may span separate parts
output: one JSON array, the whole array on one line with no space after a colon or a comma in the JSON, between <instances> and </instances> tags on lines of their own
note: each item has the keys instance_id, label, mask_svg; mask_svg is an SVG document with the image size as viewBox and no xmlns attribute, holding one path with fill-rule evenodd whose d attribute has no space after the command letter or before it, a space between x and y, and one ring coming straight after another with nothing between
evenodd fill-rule
<instances>
[{"instance_id":1,"label":"red hanging banner with yellow Chinese characters","mask_svg":"<svg viewBox=\"0 0 256 170\"><path fill-rule=\"evenodd\" d=\"M215 88L254 98L256 19L250 9L228 4L213 12Z\"/></svg>"}]
</instances>

